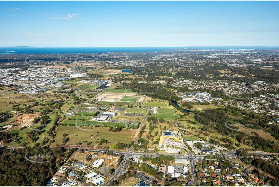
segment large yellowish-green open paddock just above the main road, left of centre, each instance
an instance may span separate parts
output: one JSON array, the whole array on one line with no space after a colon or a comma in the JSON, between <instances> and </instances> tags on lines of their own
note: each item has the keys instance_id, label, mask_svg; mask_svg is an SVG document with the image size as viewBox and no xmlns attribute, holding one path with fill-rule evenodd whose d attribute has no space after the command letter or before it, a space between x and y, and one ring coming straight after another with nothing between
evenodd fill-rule
<instances>
[{"instance_id":1,"label":"large yellowish-green open paddock just above the main road, left of centre","mask_svg":"<svg viewBox=\"0 0 279 187\"><path fill-rule=\"evenodd\" d=\"M69 141L65 145L76 145L78 142L87 141L92 142L91 145L98 146L96 141L98 139L106 139L109 143L103 143L101 146L111 147L112 145L123 142L123 143L131 143L135 136L135 131L131 130L122 130L121 132L113 133L108 132L109 128L102 127L83 127L83 129L79 129L75 126L58 126L56 130L55 142L51 144L51 146L55 146L57 144L62 144L63 134L68 134Z\"/></svg>"}]
</instances>

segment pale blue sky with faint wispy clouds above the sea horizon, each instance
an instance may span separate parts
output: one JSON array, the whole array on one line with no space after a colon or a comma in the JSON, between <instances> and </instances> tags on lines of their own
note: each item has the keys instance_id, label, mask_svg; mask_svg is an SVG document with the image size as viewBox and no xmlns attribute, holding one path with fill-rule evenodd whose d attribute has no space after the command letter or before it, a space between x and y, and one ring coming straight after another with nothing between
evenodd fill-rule
<instances>
[{"instance_id":1,"label":"pale blue sky with faint wispy clouds above the sea horizon","mask_svg":"<svg viewBox=\"0 0 279 187\"><path fill-rule=\"evenodd\" d=\"M0 46L279 46L279 2L0 2Z\"/></svg>"}]
</instances>

